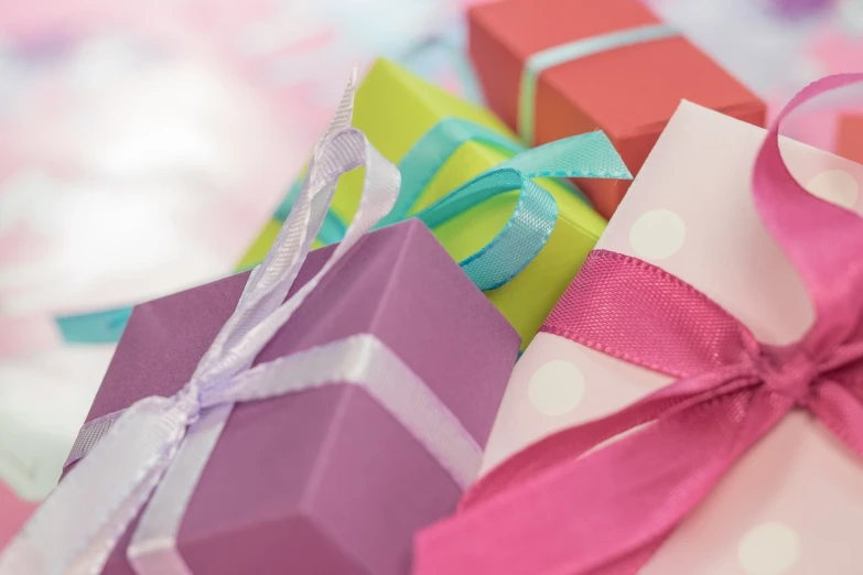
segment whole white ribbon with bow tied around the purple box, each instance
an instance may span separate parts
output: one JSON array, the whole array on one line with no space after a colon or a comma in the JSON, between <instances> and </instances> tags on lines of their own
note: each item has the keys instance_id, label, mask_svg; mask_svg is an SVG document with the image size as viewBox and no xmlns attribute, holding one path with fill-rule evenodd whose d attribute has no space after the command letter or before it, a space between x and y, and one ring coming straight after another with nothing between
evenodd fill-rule
<instances>
[{"instance_id":1,"label":"whole white ribbon with bow tied around the purple box","mask_svg":"<svg viewBox=\"0 0 863 575\"><path fill-rule=\"evenodd\" d=\"M193 477L177 482L174 476L187 469L184 457L194 451L193 444L217 440L218 424L227 420L236 402L262 400L338 380L370 386L373 395L378 391L376 397L389 400L382 401L385 406L402 415L407 413L402 421L413 421L418 402L420 411L431 415L424 420L425 428L417 428L417 422L409 428L457 481L466 482L475 470L471 467L478 464L479 449L462 441L470 437L467 432L442 404L435 408L422 394L419 399L408 397L408 389L422 392L422 382L368 336L354 336L251 368L263 346L323 276L391 209L398 196L400 177L396 167L362 132L349 127L355 78L356 73L335 119L315 148L309 175L278 240L261 265L251 272L235 313L188 383L174 397L144 399L89 428L83 452L77 445L77 455L86 456L0 555L1 575L100 573L118 539L148 501L132 538L130 562L139 574L191 573L175 550L161 549L158 556L148 552L152 547L170 547L165 539L179 525L182 501L187 501L194 490L195 473L206 463L206 448L197 451L204 457L195 463L198 470L191 474ZM285 301L322 225L338 177L364 164L364 193L344 240L321 271ZM347 361L346 357L356 361ZM346 361L349 369L344 367ZM438 435L430 430L444 432ZM452 445L462 447L453 451ZM462 453L456 453L460 449ZM169 484L172 488L165 489ZM166 503L177 500L180 505ZM153 507L159 512L152 512ZM141 552L138 557L132 556L136 544Z\"/></svg>"}]
</instances>

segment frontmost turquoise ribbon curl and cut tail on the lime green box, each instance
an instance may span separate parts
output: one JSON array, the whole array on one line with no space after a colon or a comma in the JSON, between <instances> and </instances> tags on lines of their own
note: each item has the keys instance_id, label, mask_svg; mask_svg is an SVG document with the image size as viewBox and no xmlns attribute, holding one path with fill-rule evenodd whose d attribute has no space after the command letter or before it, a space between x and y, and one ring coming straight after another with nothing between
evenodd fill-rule
<instances>
[{"instance_id":1,"label":"frontmost turquoise ribbon curl and cut tail on the lime green box","mask_svg":"<svg viewBox=\"0 0 863 575\"><path fill-rule=\"evenodd\" d=\"M518 189L513 216L492 241L459 264L483 291L495 290L520 273L548 242L558 204L535 177L632 180L602 132L589 132L535 148L488 170L417 214L434 228L486 199Z\"/></svg>"}]
</instances>

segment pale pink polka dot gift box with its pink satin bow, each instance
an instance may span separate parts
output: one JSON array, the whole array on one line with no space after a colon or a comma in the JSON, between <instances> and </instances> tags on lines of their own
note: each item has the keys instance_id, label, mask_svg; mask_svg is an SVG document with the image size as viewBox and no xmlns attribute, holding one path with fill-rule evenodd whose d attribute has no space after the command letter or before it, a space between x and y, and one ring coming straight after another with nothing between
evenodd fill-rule
<instances>
[{"instance_id":1,"label":"pale pink polka dot gift box with its pink satin bow","mask_svg":"<svg viewBox=\"0 0 863 575\"><path fill-rule=\"evenodd\" d=\"M414 575L863 573L862 184L681 102Z\"/></svg>"}]
</instances>

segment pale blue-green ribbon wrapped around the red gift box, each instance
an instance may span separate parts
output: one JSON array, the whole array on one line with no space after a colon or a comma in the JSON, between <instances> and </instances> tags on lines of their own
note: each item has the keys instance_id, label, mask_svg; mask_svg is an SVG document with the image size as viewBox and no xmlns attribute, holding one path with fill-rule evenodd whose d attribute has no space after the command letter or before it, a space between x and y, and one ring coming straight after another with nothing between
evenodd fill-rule
<instances>
[{"instance_id":1,"label":"pale blue-green ribbon wrapped around the red gift box","mask_svg":"<svg viewBox=\"0 0 863 575\"><path fill-rule=\"evenodd\" d=\"M525 63L518 96L518 130L521 141L527 145L533 142L537 79L542 72L601 52L678 35L680 33L668 24L649 24L576 40L546 48L530 56Z\"/></svg>"}]
</instances>

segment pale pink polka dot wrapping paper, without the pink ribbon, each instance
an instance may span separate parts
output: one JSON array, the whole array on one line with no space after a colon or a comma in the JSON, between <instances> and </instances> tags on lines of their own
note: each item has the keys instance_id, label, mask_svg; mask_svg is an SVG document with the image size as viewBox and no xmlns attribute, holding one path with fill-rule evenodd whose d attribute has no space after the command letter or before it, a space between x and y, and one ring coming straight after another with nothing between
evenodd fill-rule
<instances>
[{"instance_id":1,"label":"pale pink polka dot wrapping paper, without the pink ribbon","mask_svg":"<svg viewBox=\"0 0 863 575\"><path fill-rule=\"evenodd\" d=\"M597 249L660 267L716 301L759 340L783 345L799 339L813 310L753 204L749 178L763 138L759 128L682 102ZM810 193L863 209L863 166L791 140L781 148ZM513 373L484 471L541 437L618 411L670 382L541 333ZM860 462L803 412L794 412L737 462L640 574L852 575L860 572L853 552L860 517Z\"/></svg>"}]
</instances>

